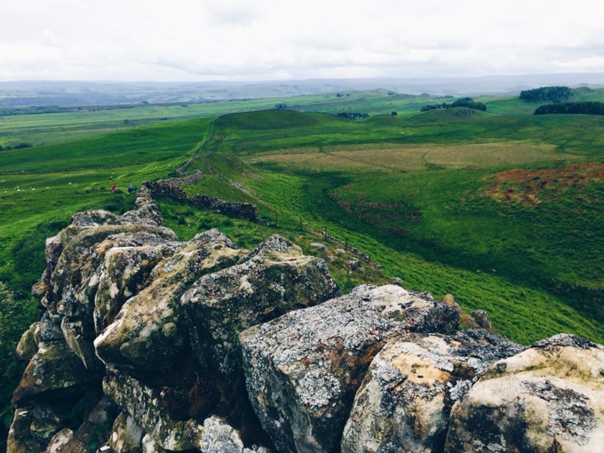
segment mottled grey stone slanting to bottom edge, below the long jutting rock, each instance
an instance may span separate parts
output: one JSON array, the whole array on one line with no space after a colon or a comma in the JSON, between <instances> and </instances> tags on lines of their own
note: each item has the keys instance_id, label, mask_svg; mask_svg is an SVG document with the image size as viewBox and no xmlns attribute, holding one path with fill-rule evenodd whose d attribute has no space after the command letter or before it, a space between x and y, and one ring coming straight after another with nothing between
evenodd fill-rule
<instances>
[{"instance_id":1,"label":"mottled grey stone slanting to bottom edge, below the long jutting rock","mask_svg":"<svg viewBox=\"0 0 604 453\"><path fill-rule=\"evenodd\" d=\"M103 391L163 449L192 448L187 440L187 421L171 418L161 390L118 371L109 371L103 380Z\"/></svg>"}]
</instances>

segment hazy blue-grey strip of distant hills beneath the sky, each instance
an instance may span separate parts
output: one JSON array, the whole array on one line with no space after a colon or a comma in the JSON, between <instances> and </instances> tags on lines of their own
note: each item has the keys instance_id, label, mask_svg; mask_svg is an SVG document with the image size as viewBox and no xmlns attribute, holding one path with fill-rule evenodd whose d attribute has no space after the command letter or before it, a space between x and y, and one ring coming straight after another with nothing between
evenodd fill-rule
<instances>
[{"instance_id":1,"label":"hazy blue-grey strip of distant hills beneath the sky","mask_svg":"<svg viewBox=\"0 0 604 453\"><path fill-rule=\"evenodd\" d=\"M372 77L275 81L8 81L0 82L0 107L168 104L272 99L338 91L386 90L439 97L518 95L542 86L604 87L601 73L554 73L449 77Z\"/></svg>"}]
</instances>

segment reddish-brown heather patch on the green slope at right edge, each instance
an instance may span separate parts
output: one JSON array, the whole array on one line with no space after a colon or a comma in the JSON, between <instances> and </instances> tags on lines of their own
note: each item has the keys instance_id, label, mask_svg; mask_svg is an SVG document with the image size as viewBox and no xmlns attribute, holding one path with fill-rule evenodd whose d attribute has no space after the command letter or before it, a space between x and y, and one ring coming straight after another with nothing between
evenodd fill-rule
<instances>
[{"instance_id":1,"label":"reddish-brown heather patch on the green slope at right edge","mask_svg":"<svg viewBox=\"0 0 604 453\"><path fill-rule=\"evenodd\" d=\"M563 168L510 170L497 173L484 194L498 200L528 205L541 203L544 195L555 196L570 188L583 190L593 181L604 181L604 163L577 163ZM580 200L584 201L584 200Z\"/></svg>"}]
</instances>

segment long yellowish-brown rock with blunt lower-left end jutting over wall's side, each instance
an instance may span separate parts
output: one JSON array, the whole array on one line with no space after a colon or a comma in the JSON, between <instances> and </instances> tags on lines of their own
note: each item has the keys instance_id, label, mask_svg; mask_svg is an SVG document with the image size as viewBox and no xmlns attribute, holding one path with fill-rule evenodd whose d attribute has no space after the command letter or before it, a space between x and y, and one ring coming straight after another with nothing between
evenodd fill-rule
<instances>
[{"instance_id":1,"label":"long yellowish-brown rock with blunt lower-left end jutting over wall's side","mask_svg":"<svg viewBox=\"0 0 604 453\"><path fill-rule=\"evenodd\" d=\"M163 258L149 285L128 299L95 339L99 358L113 368L139 372L161 370L173 362L188 335L180 296L203 274L231 266L245 253L214 229L195 235L174 255ZM98 300L98 305L104 304Z\"/></svg>"}]
</instances>

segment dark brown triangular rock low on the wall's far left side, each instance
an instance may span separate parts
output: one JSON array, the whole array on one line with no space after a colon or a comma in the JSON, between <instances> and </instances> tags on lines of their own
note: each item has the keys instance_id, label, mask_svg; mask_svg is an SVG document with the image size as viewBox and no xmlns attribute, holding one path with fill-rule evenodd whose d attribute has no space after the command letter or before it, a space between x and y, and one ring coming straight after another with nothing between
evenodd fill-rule
<instances>
[{"instance_id":1,"label":"dark brown triangular rock low on the wall's far left side","mask_svg":"<svg viewBox=\"0 0 604 453\"><path fill-rule=\"evenodd\" d=\"M34 400L81 393L92 383L100 382L100 377L99 373L86 370L64 342L41 343L12 395L12 404L24 407Z\"/></svg>"}]
</instances>

